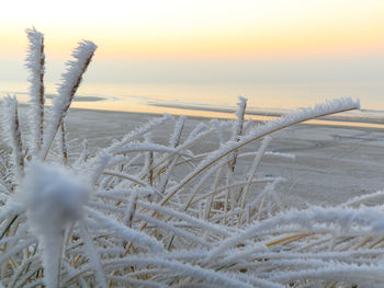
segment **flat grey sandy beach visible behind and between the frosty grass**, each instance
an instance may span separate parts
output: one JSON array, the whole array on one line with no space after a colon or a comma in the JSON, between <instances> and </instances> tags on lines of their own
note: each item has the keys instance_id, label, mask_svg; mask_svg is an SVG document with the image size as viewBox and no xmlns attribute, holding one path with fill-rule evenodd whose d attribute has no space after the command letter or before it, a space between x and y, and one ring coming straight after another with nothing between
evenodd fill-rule
<instances>
[{"instance_id":1,"label":"flat grey sandy beach visible behind and between the frosty grass","mask_svg":"<svg viewBox=\"0 0 384 288\"><path fill-rule=\"evenodd\" d=\"M22 120L25 112L23 106ZM90 151L94 152L154 117L159 115L72 108L66 118L68 138L74 147L87 139ZM188 118L184 136L199 123L208 120ZM160 126L154 135L155 141L167 142L172 127ZM286 180L278 191L291 207L340 204L384 187L384 130L297 125L273 134L272 138L268 150L292 153L295 160L264 158L259 171ZM245 151L256 151L259 145L255 142ZM199 152L207 151L210 146L217 146L217 137L204 139ZM246 163L244 166L247 168Z\"/></svg>"}]
</instances>

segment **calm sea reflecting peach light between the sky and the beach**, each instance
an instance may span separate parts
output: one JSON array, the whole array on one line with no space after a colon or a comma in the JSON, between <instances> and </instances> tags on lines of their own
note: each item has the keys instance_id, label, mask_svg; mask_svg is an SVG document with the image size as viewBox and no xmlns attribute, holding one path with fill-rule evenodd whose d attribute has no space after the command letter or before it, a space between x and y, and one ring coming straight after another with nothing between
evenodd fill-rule
<instances>
[{"instance_id":1,"label":"calm sea reflecting peach light between the sky and the beach","mask_svg":"<svg viewBox=\"0 0 384 288\"><path fill-rule=\"evenodd\" d=\"M27 102L27 83L0 82L0 95L15 94ZM56 93L55 84L46 83L48 97ZM84 81L74 107L170 113L190 116L230 117L238 96L248 99L248 110L284 113L286 110L310 106L336 97L360 99L361 107L352 117L375 118L384 124L384 82L328 83L92 83ZM49 102L49 99L47 100ZM228 113L229 112L229 113ZM271 117L253 118L266 119ZM366 122L366 120L363 120ZM371 122L371 120L369 120ZM355 124L353 124L355 125ZM360 125L360 124L359 124ZM364 126L364 125L361 125ZM384 127L384 125L379 125Z\"/></svg>"}]
</instances>

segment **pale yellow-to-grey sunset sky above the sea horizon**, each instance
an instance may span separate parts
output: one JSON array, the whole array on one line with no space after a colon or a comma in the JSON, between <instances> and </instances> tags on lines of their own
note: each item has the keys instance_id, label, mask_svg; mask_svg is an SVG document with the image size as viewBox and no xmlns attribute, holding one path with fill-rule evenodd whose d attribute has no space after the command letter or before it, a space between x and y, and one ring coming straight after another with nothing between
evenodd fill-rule
<instances>
[{"instance_id":1,"label":"pale yellow-to-grey sunset sky above the sea horizon","mask_svg":"<svg viewBox=\"0 0 384 288\"><path fill-rule=\"evenodd\" d=\"M295 83L384 80L382 0L5 1L0 81L25 81L25 27L45 34L56 82L79 39L90 82Z\"/></svg>"}]
</instances>

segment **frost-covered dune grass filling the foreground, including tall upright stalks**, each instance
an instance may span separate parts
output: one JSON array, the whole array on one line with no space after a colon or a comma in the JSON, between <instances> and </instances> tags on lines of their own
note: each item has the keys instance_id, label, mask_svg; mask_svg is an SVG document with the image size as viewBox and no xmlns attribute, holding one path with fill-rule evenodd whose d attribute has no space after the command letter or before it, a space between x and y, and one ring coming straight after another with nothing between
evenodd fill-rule
<instances>
[{"instance_id":1,"label":"frost-covered dune grass filling the foreground, including tall upright stalks","mask_svg":"<svg viewBox=\"0 0 384 288\"><path fill-rule=\"evenodd\" d=\"M383 192L290 209L275 189L284 180L259 173L264 158L294 159L268 149L274 131L358 102L329 101L255 125L240 99L234 122L187 134L185 117L165 115L74 159L65 117L97 47L80 43L45 107L44 36L27 36L29 133L19 127L15 99L2 107L2 286L384 286ZM169 141L155 142L153 131L165 125L173 127ZM201 152L208 137L216 146ZM245 151L250 143L256 151Z\"/></svg>"}]
</instances>

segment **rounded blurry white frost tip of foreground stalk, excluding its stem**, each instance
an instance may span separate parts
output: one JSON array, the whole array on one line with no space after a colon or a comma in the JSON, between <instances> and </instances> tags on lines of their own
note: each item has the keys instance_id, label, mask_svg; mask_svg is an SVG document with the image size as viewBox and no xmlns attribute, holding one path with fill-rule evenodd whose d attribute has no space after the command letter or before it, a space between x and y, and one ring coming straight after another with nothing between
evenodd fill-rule
<instances>
[{"instance_id":1,"label":"rounded blurry white frost tip of foreground stalk, excluding its stem","mask_svg":"<svg viewBox=\"0 0 384 288\"><path fill-rule=\"evenodd\" d=\"M16 195L37 238L61 233L68 223L81 218L90 191L84 183L64 166L29 165Z\"/></svg>"}]
</instances>

